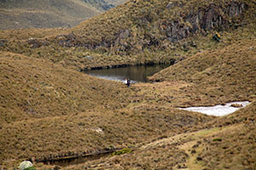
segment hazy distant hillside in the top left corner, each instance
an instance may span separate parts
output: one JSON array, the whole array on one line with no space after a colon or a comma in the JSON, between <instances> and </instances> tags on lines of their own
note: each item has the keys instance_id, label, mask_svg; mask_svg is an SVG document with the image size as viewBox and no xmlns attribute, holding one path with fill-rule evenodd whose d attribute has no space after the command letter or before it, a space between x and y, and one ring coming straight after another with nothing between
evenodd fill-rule
<instances>
[{"instance_id":1,"label":"hazy distant hillside in the top left corner","mask_svg":"<svg viewBox=\"0 0 256 170\"><path fill-rule=\"evenodd\" d=\"M104 1L1 1L0 29L76 26L109 8Z\"/></svg>"}]
</instances>

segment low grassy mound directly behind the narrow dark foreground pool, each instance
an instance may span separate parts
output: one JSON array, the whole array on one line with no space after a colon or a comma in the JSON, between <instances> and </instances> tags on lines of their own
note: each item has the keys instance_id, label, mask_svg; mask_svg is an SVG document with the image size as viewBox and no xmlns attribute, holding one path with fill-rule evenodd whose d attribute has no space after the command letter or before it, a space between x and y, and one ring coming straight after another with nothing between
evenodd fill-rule
<instances>
[{"instance_id":1,"label":"low grassy mound directly behind the narrow dark foreground pool","mask_svg":"<svg viewBox=\"0 0 256 170\"><path fill-rule=\"evenodd\" d=\"M82 155L104 148L136 147L195 130L212 116L181 110L84 111L2 124L0 161ZM10 133L11 132L11 133Z\"/></svg>"}]
</instances>

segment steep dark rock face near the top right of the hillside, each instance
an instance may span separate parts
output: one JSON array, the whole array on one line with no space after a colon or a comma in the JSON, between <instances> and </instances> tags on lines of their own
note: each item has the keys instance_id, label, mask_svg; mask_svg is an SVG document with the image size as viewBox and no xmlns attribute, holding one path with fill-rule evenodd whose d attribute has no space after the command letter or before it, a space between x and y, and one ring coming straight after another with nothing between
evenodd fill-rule
<instances>
[{"instance_id":1,"label":"steep dark rock face near the top right of the hillside","mask_svg":"<svg viewBox=\"0 0 256 170\"><path fill-rule=\"evenodd\" d=\"M230 26L230 18L234 18L247 10L247 4L231 2L227 7L210 5L197 13L183 16L183 20L163 23L160 28L171 42L195 34L197 31L209 31Z\"/></svg>"}]
</instances>

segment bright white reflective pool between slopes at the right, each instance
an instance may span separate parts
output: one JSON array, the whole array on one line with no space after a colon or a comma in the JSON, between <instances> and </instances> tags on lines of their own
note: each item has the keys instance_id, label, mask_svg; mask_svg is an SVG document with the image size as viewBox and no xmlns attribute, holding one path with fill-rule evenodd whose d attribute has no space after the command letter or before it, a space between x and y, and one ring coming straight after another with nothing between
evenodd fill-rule
<instances>
[{"instance_id":1,"label":"bright white reflective pool between slopes at the right","mask_svg":"<svg viewBox=\"0 0 256 170\"><path fill-rule=\"evenodd\" d=\"M231 105L238 104L242 105L241 107L233 107ZM186 111L196 111L201 112L207 115L213 115L213 116L225 116L230 113L233 113L242 107L245 107L249 105L250 102L248 101L237 101L237 102L230 102L225 105L215 105L215 106L207 106L207 107L187 107L187 108L179 108Z\"/></svg>"}]
</instances>

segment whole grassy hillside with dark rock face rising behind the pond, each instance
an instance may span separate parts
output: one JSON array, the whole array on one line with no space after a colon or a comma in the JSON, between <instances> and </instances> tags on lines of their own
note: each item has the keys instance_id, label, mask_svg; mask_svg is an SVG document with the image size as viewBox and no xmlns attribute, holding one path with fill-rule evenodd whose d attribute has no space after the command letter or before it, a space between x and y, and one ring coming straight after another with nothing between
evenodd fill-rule
<instances>
[{"instance_id":1,"label":"whole grassy hillside with dark rock face rising behind the pond","mask_svg":"<svg viewBox=\"0 0 256 170\"><path fill-rule=\"evenodd\" d=\"M17 40L11 36L12 32L2 31L4 39L1 39L5 42L0 48L82 70L95 66L170 63L202 50L223 48L254 37L254 12L255 3L247 0L200 4L126 2L72 29L55 31L54 35ZM222 37L221 43L212 41L216 31ZM29 41L30 38L35 40Z\"/></svg>"}]
</instances>

